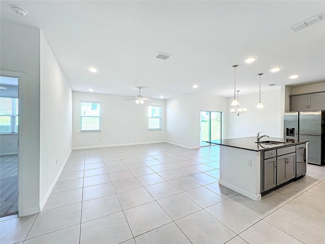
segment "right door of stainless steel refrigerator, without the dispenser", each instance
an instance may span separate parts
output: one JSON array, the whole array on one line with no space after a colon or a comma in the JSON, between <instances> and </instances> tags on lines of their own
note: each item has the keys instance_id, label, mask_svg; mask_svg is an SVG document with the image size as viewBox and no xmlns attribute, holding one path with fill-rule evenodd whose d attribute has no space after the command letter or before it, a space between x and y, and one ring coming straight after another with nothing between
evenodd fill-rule
<instances>
[{"instance_id":1,"label":"right door of stainless steel refrigerator, without the dispenser","mask_svg":"<svg viewBox=\"0 0 325 244\"><path fill-rule=\"evenodd\" d=\"M299 112L299 141L309 141L308 163L324 164L325 110Z\"/></svg>"}]
</instances>

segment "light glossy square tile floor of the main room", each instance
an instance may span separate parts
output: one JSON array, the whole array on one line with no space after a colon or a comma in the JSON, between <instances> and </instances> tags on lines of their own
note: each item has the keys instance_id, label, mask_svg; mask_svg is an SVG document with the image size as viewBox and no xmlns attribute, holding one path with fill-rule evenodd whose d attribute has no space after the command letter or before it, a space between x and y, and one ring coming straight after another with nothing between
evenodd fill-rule
<instances>
[{"instance_id":1,"label":"light glossy square tile floor of the main room","mask_svg":"<svg viewBox=\"0 0 325 244\"><path fill-rule=\"evenodd\" d=\"M0 243L325 243L325 167L255 202L219 186L218 159L218 146L73 150L43 211L1 219Z\"/></svg>"}]
</instances>

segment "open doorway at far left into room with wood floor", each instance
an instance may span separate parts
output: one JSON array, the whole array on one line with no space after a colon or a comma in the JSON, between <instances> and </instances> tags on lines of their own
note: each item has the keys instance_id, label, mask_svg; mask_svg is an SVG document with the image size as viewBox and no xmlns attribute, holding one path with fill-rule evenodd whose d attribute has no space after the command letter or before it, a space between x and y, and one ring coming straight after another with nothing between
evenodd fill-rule
<instances>
[{"instance_id":1,"label":"open doorway at far left into room with wood floor","mask_svg":"<svg viewBox=\"0 0 325 244\"><path fill-rule=\"evenodd\" d=\"M18 78L0 76L0 217L18 214Z\"/></svg>"}]
</instances>

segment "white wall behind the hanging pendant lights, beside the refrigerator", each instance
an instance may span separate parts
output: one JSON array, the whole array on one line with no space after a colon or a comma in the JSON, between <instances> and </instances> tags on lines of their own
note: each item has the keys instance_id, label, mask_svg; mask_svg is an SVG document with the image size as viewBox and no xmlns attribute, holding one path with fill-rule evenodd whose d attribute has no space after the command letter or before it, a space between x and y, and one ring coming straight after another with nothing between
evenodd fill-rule
<instances>
[{"instance_id":1,"label":"white wall behind the hanging pendant lights, beside the refrigerator","mask_svg":"<svg viewBox=\"0 0 325 244\"><path fill-rule=\"evenodd\" d=\"M228 138L256 136L259 131L262 131L262 135L282 137L281 87L271 92L262 92L262 109L256 108L258 99L258 93L239 96L240 107L247 108L247 112L239 116L230 112L235 106L231 106L233 98L228 99Z\"/></svg>"}]
</instances>

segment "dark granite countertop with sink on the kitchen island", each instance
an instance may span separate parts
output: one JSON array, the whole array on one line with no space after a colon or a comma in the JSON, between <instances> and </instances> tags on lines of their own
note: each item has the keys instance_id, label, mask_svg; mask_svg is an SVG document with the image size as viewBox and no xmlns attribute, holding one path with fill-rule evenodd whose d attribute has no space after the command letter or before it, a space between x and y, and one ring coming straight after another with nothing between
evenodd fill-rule
<instances>
[{"instance_id":1,"label":"dark granite countertop with sink on the kitchen island","mask_svg":"<svg viewBox=\"0 0 325 244\"><path fill-rule=\"evenodd\" d=\"M242 138L233 138L233 139L223 139L217 141L211 141L213 144L223 145L223 146L231 146L236 148L241 148L245 150L251 151L265 151L270 149L278 149L286 146L294 146L298 144L304 144L307 141L300 142L285 142L283 138L276 137L263 137L260 140L260 143L255 143L257 141L256 136L252 137L242 137ZM282 142L281 144L264 144L263 141L277 141Z\"/></svg>"}]
</instances>

